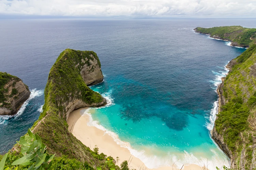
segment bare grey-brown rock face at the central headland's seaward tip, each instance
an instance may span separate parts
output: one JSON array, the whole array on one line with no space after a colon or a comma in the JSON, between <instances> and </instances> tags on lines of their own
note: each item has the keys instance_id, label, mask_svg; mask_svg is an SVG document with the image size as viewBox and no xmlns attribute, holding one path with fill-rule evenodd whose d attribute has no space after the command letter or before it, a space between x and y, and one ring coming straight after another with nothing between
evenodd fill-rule
<instances>
[{"instance_id":1,"label":"bare grey-brown rock face at the central headland's seaward tip","mask_svg":"<svg viewBox=\"0 0 256 170\"><path fill-rule=\"evenodd\" d=\"M84 65L81 70L82 78L86 85L94 85L103 81L103 74L100 65L93 55L90 55L94 60L89 60L90 65ZM85 61L82 61L85 63Z\"/></svg>"}]
</instances>

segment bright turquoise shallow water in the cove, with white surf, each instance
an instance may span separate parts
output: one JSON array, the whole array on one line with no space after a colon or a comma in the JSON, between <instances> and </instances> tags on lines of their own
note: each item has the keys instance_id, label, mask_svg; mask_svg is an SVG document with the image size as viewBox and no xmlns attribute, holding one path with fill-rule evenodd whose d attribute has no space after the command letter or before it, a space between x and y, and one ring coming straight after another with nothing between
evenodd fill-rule
<instances>
[{"instance_id":1,"label":"bright turquoise shallow water in the cove, with white surf","mask_svg":"<svg viewBox=\"0 0 256 170\"><path fill-rule=\"evenodd\" d=\"M208 81L212 91L216 90L221 77L228 71L225 67L217 67L216 70L218 72L213 71L215 79ZM211 104L213 108L208 110L191 109L192 103L184 97L186 101L180 107L171 104L175 102L172 101L171 91L157 90L148 86L149 82L141 83L123 76L108 79L108 75L104 80L91 86L91 89L102 94L109 104L103 108L91 108L96 112L91 115L94 122L90 125L99 128L100 124L117 134L118 137L109 132L119 145L128 148L148 168L172 166L174 162L177 167L183 164L203 166L207 164L207 159L212 168L222 166L224 162L229 165L229 159L216 147L209 134L217 102ZM182 98L180 95L176 97ZM202 96L194 104L204 102L205 97Z\"/></svg>"}]
</instances>

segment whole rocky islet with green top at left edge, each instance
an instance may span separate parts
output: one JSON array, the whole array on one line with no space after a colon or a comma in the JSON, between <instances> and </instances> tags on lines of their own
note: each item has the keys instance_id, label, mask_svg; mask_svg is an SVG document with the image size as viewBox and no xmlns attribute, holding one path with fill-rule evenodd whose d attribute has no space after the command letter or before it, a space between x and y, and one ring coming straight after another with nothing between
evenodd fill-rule
<instances>
[{"instance_id":1,"label":"whole rocky islet with green top at left edge","mask_svg":"<svg viewBox=\"0 0 256 170\"><path fill-rule=\"evenodd\" d=\"M29 98L30 91L19 78L0 72L0 115L17 113Z\"/></svg>"}]
</instances>

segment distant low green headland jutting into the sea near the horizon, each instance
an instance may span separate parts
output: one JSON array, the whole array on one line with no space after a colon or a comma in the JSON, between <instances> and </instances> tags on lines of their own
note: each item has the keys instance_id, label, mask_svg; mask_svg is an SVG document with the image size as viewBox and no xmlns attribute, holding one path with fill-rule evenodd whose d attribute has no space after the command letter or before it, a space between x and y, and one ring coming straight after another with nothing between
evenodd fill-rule
<instances>
[{"instance_id":1,"label":"distant low green headland jutting into the sea near the horizon","mask_svg":"<svg viewBox=\"0 0 256 170\"><path fill-rule=\"evenodd\" d=\"M208 34L212 38L231 41L231 46L249 48L256 43L256 29L241 26L225 26L194 29L197 33Z\"/></svg>"}]
</instances>

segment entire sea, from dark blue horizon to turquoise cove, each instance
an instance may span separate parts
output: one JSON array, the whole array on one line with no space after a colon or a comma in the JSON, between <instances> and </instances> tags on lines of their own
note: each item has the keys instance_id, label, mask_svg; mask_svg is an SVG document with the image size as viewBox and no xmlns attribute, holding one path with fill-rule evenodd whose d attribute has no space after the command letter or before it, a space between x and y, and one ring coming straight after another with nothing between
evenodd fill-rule
<instances>
[{"instance_id":1,"label":"entire sea, from dark blue horizon to turquoise cove","mask_svg":"<svg viewBox=\"0 0 256 170\"><path fill-rule=\"evenodd\" d=\"M225 65L245 49L196 34L196 27L240 25L256 19L2 19L0 71L21 78L31 96L15 116L0 117L0 153L38 119L49 70L66 48L93 50L104 82L91 86L109 101L94 125L147 167L228 165L210 137L217 85Z\"/></svg>"}]
</instances>

